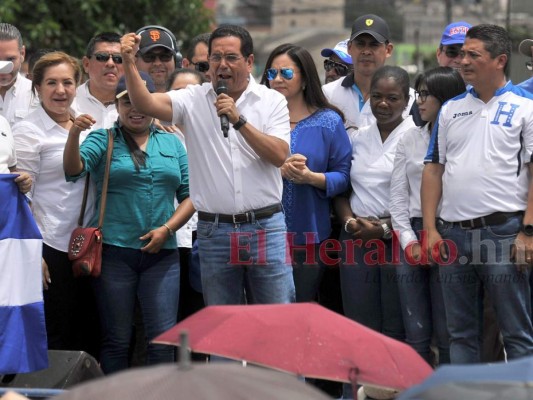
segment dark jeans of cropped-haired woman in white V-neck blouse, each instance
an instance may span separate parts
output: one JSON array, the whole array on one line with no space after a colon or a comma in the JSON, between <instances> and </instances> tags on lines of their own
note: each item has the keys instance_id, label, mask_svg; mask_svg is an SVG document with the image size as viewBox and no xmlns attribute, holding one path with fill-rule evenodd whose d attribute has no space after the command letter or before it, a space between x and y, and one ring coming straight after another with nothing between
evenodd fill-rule
<instances>
[{"instance_id":1,"label":"dark jeans of cropped-haired woman in white V-neck blouse","mask_svg":"<svg viewBox=\"0 0 533 400\"><path fill-rule=\"evenodd\" d=\"M375 241L383 244L383 251L378 251L376 246L370 246L371 242L368 248L353 244L351 235L344 230L340 240L344 314L384 335L405 340L396 275L398 265L392 263L392 241ZM377 257L384 257L387 261L381 263Z\"/></svg>"}]
</instances>

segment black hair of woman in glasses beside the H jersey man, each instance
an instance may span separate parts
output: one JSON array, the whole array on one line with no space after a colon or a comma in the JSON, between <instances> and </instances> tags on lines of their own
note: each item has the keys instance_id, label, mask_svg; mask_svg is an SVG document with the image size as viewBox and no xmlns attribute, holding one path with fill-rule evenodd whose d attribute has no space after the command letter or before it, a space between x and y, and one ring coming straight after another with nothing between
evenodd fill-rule
<instances>
[{"instance_id":1,"label":"black hair of woman in glasses beside the H jersey man","mask_svg":"<svg viewBox=\"0 0 533 400\"><path fill-rule=\"evenodd\" d=\"M424 84L428 92L441 105L466 90L465 82L459 71L450 67L437 67L424 71L416 77L415 89L419 90Z\"/></svg>"}]
</instances>

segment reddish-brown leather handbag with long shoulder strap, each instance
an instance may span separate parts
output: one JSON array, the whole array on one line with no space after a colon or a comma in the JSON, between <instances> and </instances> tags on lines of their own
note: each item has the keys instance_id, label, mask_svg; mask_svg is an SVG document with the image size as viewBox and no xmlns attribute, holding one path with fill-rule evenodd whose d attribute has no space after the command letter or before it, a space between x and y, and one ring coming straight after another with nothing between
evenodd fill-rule
<instances>
[{"instance_id":1,"label":"reddish-brown leather handbag with long shoulder strap","mask_svg":"<svg viewBox=\"0 0 533 400\"><path fill-rule=\"evenodd\" d=\"M104 172L104 182L102 184L102 198L100 201L100 214L98 216L98 226L96 228L83 228L83 216L87 206L87 195L89 194L90 176L85 178L85 189L83 191L83 201L81 203L78 227L72 231L68 246L68 258L72 261L72 272L75 277L79 276L100 276L102 271L102 225L104 223L105 205L107 201L107 185L109 183L109 169L111 168L111 156L113 153L113 132L107 130L107 158Z\"/></svg>"}]
</instances>

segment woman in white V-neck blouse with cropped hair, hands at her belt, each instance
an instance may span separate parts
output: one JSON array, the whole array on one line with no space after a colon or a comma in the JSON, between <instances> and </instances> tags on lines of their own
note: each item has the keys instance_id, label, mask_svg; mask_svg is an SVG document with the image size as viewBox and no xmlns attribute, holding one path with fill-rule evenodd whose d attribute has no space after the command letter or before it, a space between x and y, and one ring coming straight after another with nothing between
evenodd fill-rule
<instances>
[{"instance_id":1,"label":"woman in white V-neck blouse with cropped hair, hands at her belt","mask_svg":"<svg viewBox=\"0 0 533 400\"><path fill-rule=\"evenodd\" d=\"M389 212L396 145L415 126L404 119L409 75L400 67L379 68L370 82L375 121L352 139L352 191L335 199L343 222L340 275L347 317L397 340L405 333L399 305Z\"/></svg>"}]
</instances>

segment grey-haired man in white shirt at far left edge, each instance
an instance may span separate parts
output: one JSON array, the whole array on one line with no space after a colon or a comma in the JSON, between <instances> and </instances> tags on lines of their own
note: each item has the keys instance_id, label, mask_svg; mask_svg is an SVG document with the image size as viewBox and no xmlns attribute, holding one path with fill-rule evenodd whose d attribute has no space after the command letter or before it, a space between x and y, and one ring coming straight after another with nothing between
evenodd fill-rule
<instances>
[{"instance_id":1,"label":"grey-haired man in white shirt at far left edge","mask_svg":"<svg viewBox=\"0 0 533 400\"><path fill-rule=\"evenodd\" d=\"M13 63L10 73L0 74L0 115L11 126L39 105L39 99L31 90L31 81L19 73L25 55L19 30L11 24L0 23L0 61Z\"/></svg>"}]
</instances>

